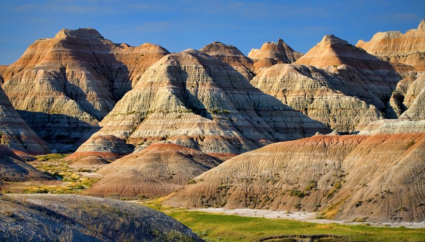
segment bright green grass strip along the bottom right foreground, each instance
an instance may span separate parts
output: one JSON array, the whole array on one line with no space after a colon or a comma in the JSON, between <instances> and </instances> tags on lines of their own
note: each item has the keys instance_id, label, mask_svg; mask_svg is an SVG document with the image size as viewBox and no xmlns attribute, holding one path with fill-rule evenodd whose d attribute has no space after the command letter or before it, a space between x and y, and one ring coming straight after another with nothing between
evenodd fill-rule
<instances>
[{"instance_id":1,"label":"bright green grass strip along the bottom right foreground","mask_svg":"<svg viewBox=\"0 0 425 242\"><path fill-rule=\"evenodd\" d=\"M347 241L425 241L425 228L314 224L164 208L157 203L143 205L165 212L190 227L206 241L256 241L268 236L314 234L341 235Z\"/></svg>"}]
</instances>

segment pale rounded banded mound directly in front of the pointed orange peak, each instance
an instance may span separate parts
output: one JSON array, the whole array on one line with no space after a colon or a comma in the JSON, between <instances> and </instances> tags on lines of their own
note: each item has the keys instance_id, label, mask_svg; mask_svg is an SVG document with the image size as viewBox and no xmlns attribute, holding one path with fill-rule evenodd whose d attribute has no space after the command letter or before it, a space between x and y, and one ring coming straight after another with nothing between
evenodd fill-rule
<instances>
[{"instance_id":1,"label":"pale rounded banded mound directly in front of the pointed orange peak","mask_svg":"<svg viewBox=\"0 0 425 242\"><path fill-rule=\"evenodd\" d=\"M333 130L360 131L383 117L366 102L374 97L370 83L346 81L314 66L277 64L255 76L251 84ZM370 103L383 106L376 97Z\"/></svg>"}]
</instances>

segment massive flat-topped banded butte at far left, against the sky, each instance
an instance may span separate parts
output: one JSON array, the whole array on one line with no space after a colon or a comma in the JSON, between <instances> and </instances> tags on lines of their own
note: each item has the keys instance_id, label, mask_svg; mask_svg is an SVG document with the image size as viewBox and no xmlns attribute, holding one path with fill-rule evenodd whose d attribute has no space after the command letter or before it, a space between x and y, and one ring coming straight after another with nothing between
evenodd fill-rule
<instances>
[{"instance_id":1,"label":"massive flat-topped banded butte at far left, against the sky","mask_svg":"<svg viewBox=\"0 0 425 242\"><path fill-rule=\"evenodd\" d=\"M63 29L30 45L0 76L12 104L39 136L73 143L93 133L136 78L168 53L157 45L116 45L94 29Z\"/></svg>"}]
</instances>

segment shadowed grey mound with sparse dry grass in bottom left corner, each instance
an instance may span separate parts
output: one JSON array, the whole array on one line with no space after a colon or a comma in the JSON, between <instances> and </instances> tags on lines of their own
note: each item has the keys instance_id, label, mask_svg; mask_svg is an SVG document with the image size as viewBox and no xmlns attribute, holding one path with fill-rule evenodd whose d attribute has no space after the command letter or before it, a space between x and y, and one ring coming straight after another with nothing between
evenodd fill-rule
<instances>
[{"instance_id":1,"label":"shadowed grey mound with sparse dry grass in bottom left corner","mask_svg":"<svg viewBox=\"0 0 425 242\"><path fill-rule=\"evenodd\" d=\"M124 201L76 195L0 195L0 207L1 241L202 241L175 219Z\"/></svg>"}]
</instances>

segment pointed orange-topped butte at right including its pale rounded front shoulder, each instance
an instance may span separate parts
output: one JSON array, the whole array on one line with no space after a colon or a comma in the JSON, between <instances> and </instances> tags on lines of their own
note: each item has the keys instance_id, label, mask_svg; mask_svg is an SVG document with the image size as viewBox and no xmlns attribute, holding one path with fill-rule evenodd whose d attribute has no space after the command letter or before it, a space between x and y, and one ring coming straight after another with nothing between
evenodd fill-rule
<instances>
[{"instance_id":1,"label":"pointed orange-topped butte at right including its pale rounded front shoulder","mask_svg":"<svg viewBox=\"0 0 425 242\"><path fill-rule=\"evenodd\" d=\"M251 83L334 130L354 132L383 118L401 77L391 64L333 35L293 64L277 64Z\"/></svg>"}]
</instances>

